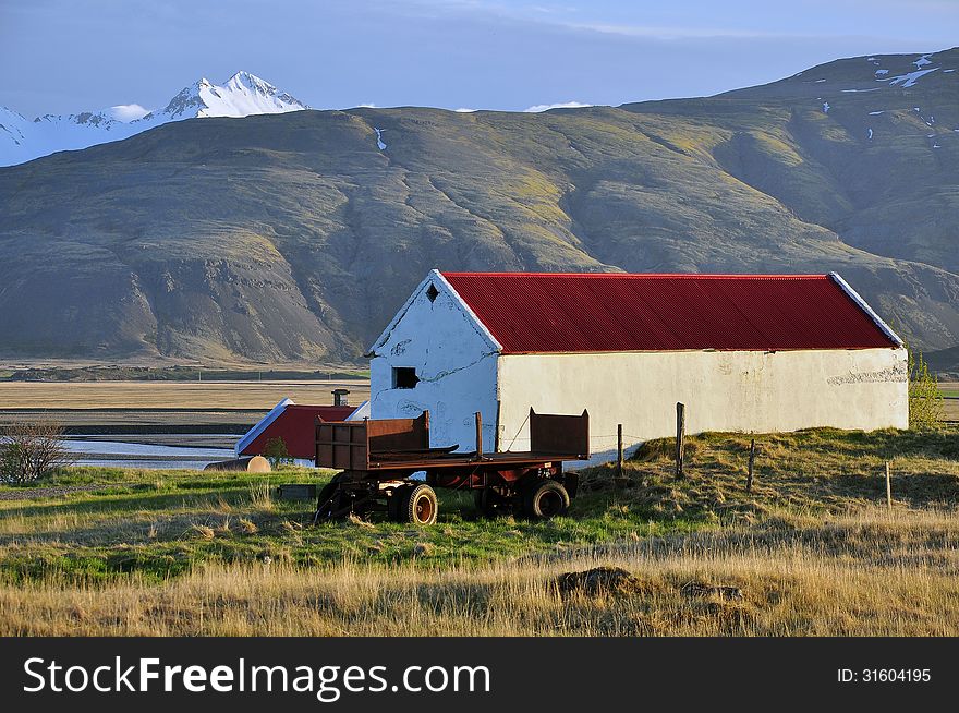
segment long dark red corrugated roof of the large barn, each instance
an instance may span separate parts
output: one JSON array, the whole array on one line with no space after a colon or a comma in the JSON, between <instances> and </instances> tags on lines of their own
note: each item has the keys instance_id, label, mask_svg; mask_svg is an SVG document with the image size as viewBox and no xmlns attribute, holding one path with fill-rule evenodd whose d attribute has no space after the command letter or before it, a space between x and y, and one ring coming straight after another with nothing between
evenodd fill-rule
<instances>
[{"instance_id":1,"label":"long dark red corrugated roof of the large barn","mask_svg":"<svg viewBox=\"0 0 959 713\"><path fill-rule=\"evenodd\" d=\"M503 353L897 346L829 275L442 275Z\"/></svg>"}]
</instances>

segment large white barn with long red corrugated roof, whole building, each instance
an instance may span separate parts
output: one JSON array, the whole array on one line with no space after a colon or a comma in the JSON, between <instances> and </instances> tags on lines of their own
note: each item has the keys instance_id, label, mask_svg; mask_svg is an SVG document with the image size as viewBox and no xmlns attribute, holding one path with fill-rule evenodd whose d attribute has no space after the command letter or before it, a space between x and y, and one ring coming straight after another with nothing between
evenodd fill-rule
<instances>
[{"instance_id":1,"label":"large white barn with long red corrugated roof, whole building","mask_svg":"<svg viewBox=\"0 0 959 713\"><path fill-rule=\"evenodd\" d=\"M839 275L440 273L371 348L371 415L433 446L529 448L590 412L594 461L687 432L908 427L903 342Z\"/></svg>"}]
</instances>

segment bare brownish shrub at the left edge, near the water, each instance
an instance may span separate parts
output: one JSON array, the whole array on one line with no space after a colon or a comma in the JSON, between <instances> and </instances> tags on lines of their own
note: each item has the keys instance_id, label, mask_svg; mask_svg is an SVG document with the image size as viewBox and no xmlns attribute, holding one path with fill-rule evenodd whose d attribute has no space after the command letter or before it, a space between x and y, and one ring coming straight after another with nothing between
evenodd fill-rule
<instances>
[{"instance_id":1,"label":"bare brownish shrub at the left edge, near the water","mask_svg":"<svg viewBox=\"0 0 959 713\"><path fill-rule=\"evenodd\" d=\"M29 483L72 462L63 430L52 421L13 423L0 437L0 480L5 483Z\"/></svg>"}]
</instances>

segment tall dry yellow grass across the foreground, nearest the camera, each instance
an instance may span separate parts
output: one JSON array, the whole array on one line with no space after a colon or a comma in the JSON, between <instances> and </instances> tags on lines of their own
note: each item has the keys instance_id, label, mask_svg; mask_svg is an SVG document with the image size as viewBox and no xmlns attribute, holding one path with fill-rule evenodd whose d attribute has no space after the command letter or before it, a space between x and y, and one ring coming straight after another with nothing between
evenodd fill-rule
<instances>
[{"instance_id":1,"label":"tall dry yellow grass across the foreground, nearest the camera","mask_svg":"<svg viewBox=\"0 0 959 713\"><path fill-rule=\"evenodd\" d=\"M957 636L959 516L865 509L429 570L353 561L209 566L161 584L57 578L0 589L0 635ZM639 579L563 597L561 572ZM689 582L742 601L688 596Z\"/></svg>"}]
</instances>

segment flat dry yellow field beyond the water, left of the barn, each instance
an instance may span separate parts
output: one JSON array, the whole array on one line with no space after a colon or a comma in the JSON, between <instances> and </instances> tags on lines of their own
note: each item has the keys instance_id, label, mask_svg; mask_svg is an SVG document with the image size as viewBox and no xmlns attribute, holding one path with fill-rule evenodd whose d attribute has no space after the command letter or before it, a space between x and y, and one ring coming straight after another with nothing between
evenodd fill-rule
<instances>
[{"instance_id":1,"label":"flat dry yellow field beyond the water, left of the barn","mask_svg":"<svg viewBox=\"0 0 959 713\"><path fill-rule=\"evenodd\" d=\"M2 382L4 409L271 409L284 398L331 403L330 391L350 389L352 403L369 398L369 382Z\"/></svg>"}]
</instances>

